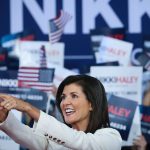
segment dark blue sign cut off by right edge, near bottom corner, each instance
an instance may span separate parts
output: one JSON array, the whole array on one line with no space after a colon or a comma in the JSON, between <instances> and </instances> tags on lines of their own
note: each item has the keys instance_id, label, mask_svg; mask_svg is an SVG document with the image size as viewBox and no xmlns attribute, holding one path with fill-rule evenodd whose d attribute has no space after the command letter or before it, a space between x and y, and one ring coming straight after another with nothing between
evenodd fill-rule
<instances>
[{"instance_id":1,"label":"dark blue sign cut off by right edge, near bottom corner","mask_svg":"<svg viewBox=\"0 0 150 150\"><path fill-rule=\"evenodd\" d=\"M150 142L150 107L140 105L141 112L141 130L148 142Z\"/></svg>"}]
</instances>

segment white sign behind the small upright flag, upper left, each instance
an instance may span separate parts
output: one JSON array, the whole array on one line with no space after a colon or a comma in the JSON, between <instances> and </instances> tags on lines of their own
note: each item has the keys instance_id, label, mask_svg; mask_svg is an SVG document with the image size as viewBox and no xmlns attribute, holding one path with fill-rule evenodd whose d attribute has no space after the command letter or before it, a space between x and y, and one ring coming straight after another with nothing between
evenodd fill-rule
<instances>
[{"instance_id":1,"label":"white sign behind the small upright flag, upper left","mask_svg":"<svg viewBox=\"0 0 150 150\"><path fill-rule=\"evenodd\" d=\"M46 61L56 65L64 65L64 43L50 45L49 41L17 41L15 53L20 60L20 66L40 67L40 49L44 46Z\"/></svg>"}]
</instances>

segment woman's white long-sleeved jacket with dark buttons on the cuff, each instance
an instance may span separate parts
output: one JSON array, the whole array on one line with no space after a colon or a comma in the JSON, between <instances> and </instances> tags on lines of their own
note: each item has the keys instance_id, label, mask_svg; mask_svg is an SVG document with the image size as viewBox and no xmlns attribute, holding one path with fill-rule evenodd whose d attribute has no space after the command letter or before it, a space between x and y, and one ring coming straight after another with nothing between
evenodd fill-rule
<instances>
[{"instance_id":1,"label":"woman's white long-sleeved jacket with dark buttons on the cuff","mask_svg":"<svg viewBox=\"0 0 150 150\"><path fill-rule=\"evenodd\" d=\"M33 128L22 124L10 112L0 124L0 130L30 150L121 150L122 144L121 136L115 129L103 128L94 134L84 133L42 111Z\"/></svg>"}]
</instances>

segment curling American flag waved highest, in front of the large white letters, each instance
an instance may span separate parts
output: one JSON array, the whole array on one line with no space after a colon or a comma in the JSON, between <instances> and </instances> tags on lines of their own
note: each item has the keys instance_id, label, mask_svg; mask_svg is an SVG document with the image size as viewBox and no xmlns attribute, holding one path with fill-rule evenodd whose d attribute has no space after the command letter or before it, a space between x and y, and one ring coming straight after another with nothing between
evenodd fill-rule
<instances>
[{"instance_id":1,"label":"curling American flag waved highest, in front of the large white letters","mask_svg":"<svg viewBox=\"0 0 150 150\"><path fill-rule=\"evenodd\" d=\"M49 40L51 44L54 44L60 40L64 27L71 18L72 16L70 14L61 10L58 18L49 20Z\"/></svg>"}]
</instances>

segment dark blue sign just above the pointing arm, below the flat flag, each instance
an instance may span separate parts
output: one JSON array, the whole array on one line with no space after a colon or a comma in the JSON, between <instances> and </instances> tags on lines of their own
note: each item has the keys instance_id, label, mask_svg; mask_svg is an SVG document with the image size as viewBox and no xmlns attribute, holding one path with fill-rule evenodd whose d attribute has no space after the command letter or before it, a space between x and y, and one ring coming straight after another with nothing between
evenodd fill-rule
<instances>
[{"instance_id":1,"label":"dark blue sign just above the pointing arm, below the flat flag","mask_svg":"<svg viewBox=\"0 0 150 150\"><path fill-rule=\"evenodd\" d=\"M41 110L45 110L47 106L48 95L45 92L36 89L0 87L0 93L7 93L27 101Z\"/></svg>"}]
</instances>

